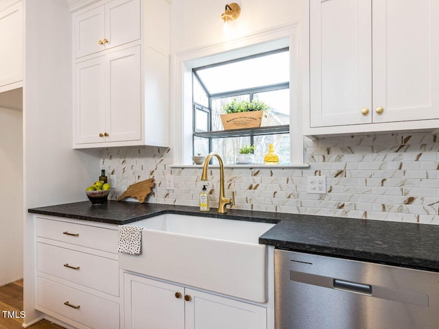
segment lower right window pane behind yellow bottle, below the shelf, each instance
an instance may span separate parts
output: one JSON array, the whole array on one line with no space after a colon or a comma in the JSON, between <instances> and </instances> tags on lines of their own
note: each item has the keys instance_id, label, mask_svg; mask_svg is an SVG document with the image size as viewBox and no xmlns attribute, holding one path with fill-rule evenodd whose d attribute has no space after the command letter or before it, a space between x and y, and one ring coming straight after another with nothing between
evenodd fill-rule
<instances>
[{"instance_id":1,"label":"lower right window pane behind yellow bottle, below the shelf","mask_svg":"<svg viewBox=\"0 0 439 329\"><path fill-rule=\"evenodd\" d=\"M279 164L289 164L289 134L254 136L254 163L263 164L270 143L279 156Z\"/></svg>"}]
</instances>

